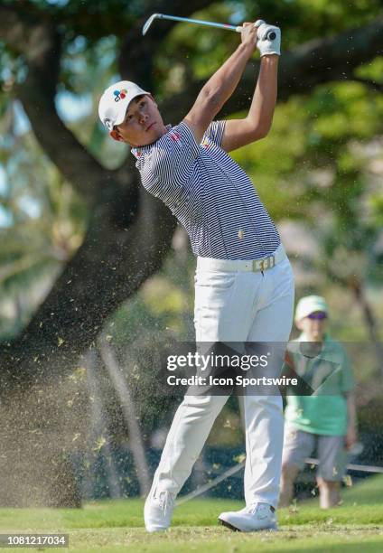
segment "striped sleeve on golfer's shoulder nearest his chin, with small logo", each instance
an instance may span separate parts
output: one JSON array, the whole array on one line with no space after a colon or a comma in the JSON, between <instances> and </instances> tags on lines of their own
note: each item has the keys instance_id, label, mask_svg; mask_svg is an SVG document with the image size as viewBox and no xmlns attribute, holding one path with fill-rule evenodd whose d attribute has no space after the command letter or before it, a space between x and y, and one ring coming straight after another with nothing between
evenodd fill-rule
<instances>
[{"instance_id":1,"label":"striped sleeve on golfer's shoulder nearest his chin, with small logo","mask_svg":"<svg viewBox=\"0 0 383 553\"><path fill-rule=\"evenodd\" d=\"M140 167L145 189L168 203L189 181L199 152L200 147L186 123L171 128L145 155Z\"/></svg>"}]
</instances>

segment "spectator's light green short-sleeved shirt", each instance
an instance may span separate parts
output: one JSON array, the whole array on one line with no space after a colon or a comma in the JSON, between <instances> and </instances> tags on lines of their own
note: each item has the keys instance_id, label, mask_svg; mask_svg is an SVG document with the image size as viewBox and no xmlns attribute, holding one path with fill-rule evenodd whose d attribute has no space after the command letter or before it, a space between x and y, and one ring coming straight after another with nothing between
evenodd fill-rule
<instances>
[{"instance_id":1,"label":"spectator's light green short-sleeved shirt","mask_svg":"<svg viewBox=\"0 0 383 553\"><path fill-rule=\"evenodd\" d=\"M285 421L299 430L324 436L345 436L347 433L347 401L345 393L354 388L350 362L341 343L325 334L322 350L313 353L304 347L304 333L287 348L296 374L312 389L312 395L287 395ZM284 372L289 372L285 364ZM294 394L294 389L288 389Z\"/></svg>"}]
</instances>

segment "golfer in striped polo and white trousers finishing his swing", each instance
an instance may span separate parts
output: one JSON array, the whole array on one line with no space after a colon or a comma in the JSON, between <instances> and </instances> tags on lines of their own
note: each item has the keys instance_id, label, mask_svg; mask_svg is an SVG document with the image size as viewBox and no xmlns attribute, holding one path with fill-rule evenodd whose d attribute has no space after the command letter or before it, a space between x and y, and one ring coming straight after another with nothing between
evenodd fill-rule
<instances>
[{"instance_id":1,"label":"golfer in striped polo and white trousers finishing his swing","mask_svg":"<svg viewBox=\"0 0 383 553\"><path fill-rule=\"evenodd\" d=\"M153 96L129 81L108 88L99 102L110 136L132 146L145 189L171 209L190 236L197 257L197 342L287 342L291 331L294 277L285 249L253 183L228 155L270 130L280 37L280 30L265 22L244 23L238 48L175 127L164 125ZM213 121L256 47L261 63L248 116ZM169 527L176 495L227 399L202 395L182 401L145 502L148 531ZM244 404L246 507L221 513L219 520L233 530L275 529L282 400L248 395Z\"/></svg>"}]
</instances>

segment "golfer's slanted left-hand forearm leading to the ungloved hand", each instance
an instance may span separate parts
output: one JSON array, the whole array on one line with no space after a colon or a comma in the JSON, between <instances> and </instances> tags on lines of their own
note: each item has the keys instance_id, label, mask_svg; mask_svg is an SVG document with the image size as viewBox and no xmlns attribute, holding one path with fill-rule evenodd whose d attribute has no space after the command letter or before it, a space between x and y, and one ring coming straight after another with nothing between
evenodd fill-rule
<instances>
[{"instance_id":1,"label":"golfer's slanted left-hand forearm leading to the ungloved hand","mask_svg":"<svg viewBox=\"0 0 383 553\"><path fill-rule=\"evenodd\" d=\"M231 54L229 60L225 61L210 80L201 89L200 94L206 94L213 99L216 105L216 113L228 101L245 70L253 49L247 44L239 44L237 50Z\"/></svg>"}]
</instances>

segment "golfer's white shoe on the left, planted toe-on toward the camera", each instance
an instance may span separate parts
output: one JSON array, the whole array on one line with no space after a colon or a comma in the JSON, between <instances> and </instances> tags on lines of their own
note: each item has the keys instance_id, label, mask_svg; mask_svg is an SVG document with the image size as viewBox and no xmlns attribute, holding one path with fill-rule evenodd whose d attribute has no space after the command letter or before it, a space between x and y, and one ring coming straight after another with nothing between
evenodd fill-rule
<instances>
[{"instance_id":1,"label":"golfer's white shoe on the left, planted toe-on toward the camera","mask_svg":"<svg viewBox=\"0 0 383 553\"><path fill-rule=\"evenodd\" d=\"M145 501L144 519L148 532L167 530L170 526L175 495L171 492L160 492L152 488Z\"/></svg>"}]
</instances>

